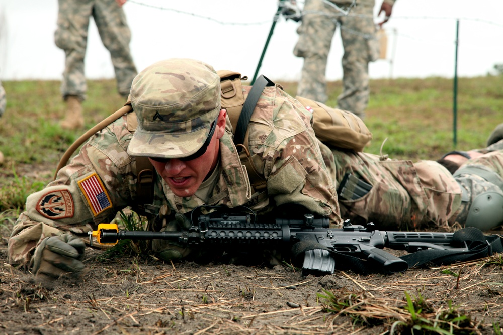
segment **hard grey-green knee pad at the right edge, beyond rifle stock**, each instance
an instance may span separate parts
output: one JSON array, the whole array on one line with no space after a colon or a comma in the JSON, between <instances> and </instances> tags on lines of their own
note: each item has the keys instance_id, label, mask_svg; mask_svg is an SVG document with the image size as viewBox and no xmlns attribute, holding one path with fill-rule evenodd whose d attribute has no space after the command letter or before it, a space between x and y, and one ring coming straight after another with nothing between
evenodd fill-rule
<instances>
[{"instance_id":1,"label":"hard grey-green knee pad at the right edge, beyond rifle stock","mask_svg":"<svg viewBox=\"0 0 503 335\"><path fill-rule=\"evenodd\" d=\"M503 195L497 192L484 192L475 197L465 227L475 227L488 231L503 224Z\"/></svg>"}]
</instances>

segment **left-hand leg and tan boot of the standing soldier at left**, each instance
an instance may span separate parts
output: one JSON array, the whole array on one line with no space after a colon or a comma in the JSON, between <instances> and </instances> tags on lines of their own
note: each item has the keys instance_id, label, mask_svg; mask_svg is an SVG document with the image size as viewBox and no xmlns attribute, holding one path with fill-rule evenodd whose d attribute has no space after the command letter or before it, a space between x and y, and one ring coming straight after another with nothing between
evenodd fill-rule
<instances>
[{"instance_id":1,"label":"left-hand leg and tan boot of the standing soldier at left","mask_svg":"<svg viewBox=\"0 0 503 335\"><path fill-rule=\"evenodd\" d=\"M59 0L56 46L65 52L65 69L61 82L61 95L67 103L61 127L77 129L83 126L80 102L86 99L84 57L88 39L89 17L93 2L86 0Z\"/></svg>"}]
</instances>

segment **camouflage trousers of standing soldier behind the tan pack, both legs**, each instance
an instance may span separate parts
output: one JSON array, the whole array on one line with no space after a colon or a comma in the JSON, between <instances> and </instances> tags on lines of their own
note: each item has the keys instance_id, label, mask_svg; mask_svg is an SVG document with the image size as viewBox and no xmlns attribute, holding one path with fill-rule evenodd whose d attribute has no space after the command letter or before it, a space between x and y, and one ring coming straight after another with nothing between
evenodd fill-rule
<instances>
[{"instance_id":1,"label":"camouflage trousers of standing soldier behind the tan pack, both legs","mask_svg":"<svg viewBox=\"0 0 503 335\"><path fill-rule=\"evenodd\" d=\"M394 0L385 0L393 5ZM351 1L331 2L348 8ZM327 100L325 70L332 37L339 24L344 47L343 91L338 107L364 117L369 101L368 64L379 56L379 43L373 20L374 0L357 0L356 6L344 16L330 6L328 0L306 0L299 40L294 54L304 58L297 95L312 100Z\"/></svg>"}]
</instances>

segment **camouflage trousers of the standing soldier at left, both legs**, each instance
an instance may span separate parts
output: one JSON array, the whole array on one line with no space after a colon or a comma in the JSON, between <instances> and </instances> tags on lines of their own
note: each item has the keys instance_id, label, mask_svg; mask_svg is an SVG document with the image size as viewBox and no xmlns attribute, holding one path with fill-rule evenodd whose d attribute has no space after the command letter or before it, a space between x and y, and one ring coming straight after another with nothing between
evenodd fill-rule
<instances>
[{"instance_id":1,"label":"camouflage trousers of the standing soldier at left, both legs","mask_svg":"<svg viewBox=\"0 0 503 335\"><path fill-rule=\"evenodd\" d=\"M81 101L86 99L84 58L91 16L96 22L103 45L110 52L117 90L120 95L127 97L137 71L129 51L131 31L122 7L115 0L58 0L58 3L54 41L66 56L61 83L63 99L68 95L75 95Z\"/></svg>"}]
</instances>

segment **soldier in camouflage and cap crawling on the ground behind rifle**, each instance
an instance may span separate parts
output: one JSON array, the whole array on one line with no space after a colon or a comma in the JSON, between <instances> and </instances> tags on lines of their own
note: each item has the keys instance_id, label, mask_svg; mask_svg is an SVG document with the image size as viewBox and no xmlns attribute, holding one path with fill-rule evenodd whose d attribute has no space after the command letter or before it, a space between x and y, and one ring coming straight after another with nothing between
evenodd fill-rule
<instances>
[{"instance_id":1,"label":"soldier in camouflage and cap crawling on the ground behind rifle","mask_svg":"<svg viewBox=\"0 0 503 335\"><path fill-rule=\"evenodd\" d=\"M232 98L242 102L250 98L250 86L241 87L237 76ZM167 59L140 72L130 92L134 113L91 137L53 182L28 197L9 239L9 262L24 264L38 278L78 277L85 268L81 237L139 204L155 231L187 229L186 214L202 205L247 205L259 216L309 212L338 225L343 218L372 221L379 230L448 228L455 222L482 223L485 230L503 222L501 151L470 159L452 175L435 161L328 147L316 137L313 108L280 85L259 92L245 142L236 146L221 85L210 65L192 59ZM238 148L249 154L249 169ZM155 169L148 203L137 183L146 158ZM250 169L262 183L250 179ZM341 190L347 182L367 191L356 198L338 193L334 185ZM479 220L472 210L480 203L489 218ZM165 240L153 240L151 247L166 261L209 252Z\"/></svg>"}]
</instances>

